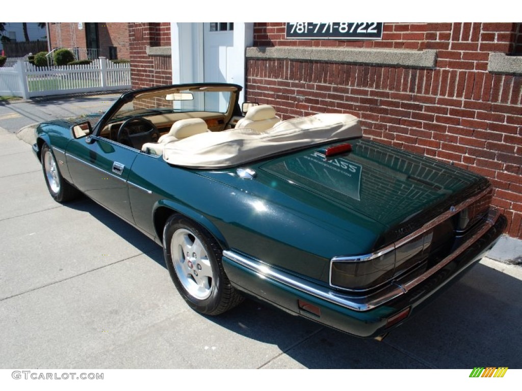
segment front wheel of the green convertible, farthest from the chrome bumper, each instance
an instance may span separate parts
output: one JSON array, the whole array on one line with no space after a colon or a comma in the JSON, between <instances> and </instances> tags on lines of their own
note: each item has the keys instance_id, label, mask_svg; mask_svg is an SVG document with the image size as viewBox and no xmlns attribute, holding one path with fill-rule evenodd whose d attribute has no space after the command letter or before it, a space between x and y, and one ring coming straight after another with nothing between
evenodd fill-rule
<instances>
[{"instance_id":1,"label":"front wheel of the green convertible, farthest from the chrome bumper","mask_svg":"<svg viewBox=\"0 0 522 391\"><path fill-rule=\"evenodd\" d=\"M77 198L79 195L78 189L69 184L60 174L56 158L49 145L43 144L41 158L43 177L51 197L57 202L67 202Z\"/></svg>"}]
</instances>

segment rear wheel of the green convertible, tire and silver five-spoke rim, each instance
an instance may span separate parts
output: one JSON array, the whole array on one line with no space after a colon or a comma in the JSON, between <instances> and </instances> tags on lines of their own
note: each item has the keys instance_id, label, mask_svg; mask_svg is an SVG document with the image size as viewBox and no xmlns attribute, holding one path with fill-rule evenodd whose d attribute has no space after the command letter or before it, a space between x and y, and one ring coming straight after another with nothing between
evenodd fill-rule
<instances>
[{"instance_id":1,"label":"rear wheel of the green convertible, tire and silver five-spoke rim","mask_svg":"<svg viewBox=\"0 0 522 391\"><path fill-rule=\"evenodd\" d=\"M223 270L222 249L205 228L171 216L163 229L163 252L176 289L193 310L219 315L243 301Z\"/></svg>"}]
</instances>

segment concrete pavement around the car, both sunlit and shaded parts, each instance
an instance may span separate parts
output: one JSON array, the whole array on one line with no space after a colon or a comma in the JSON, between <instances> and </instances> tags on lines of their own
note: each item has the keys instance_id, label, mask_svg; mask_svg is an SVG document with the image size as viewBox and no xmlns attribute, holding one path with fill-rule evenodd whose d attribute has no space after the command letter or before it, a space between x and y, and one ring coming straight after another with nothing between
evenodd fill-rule
<instances>
[{"instance_id":1,"label":"concrete pavement around the car, both sunlit and shaded parts","mask_svg":"<svg viewBox=\"0 0 522 391\"><path fill-rule=\"evenodd\" d=\"M54 115L50 102L15 105L28 120ZM522 368L522 268L487 259L381 342L250 300L195 313L154 242L86 198L53 201L5 109L0 368Z\"/></svg>"}]
</instances>

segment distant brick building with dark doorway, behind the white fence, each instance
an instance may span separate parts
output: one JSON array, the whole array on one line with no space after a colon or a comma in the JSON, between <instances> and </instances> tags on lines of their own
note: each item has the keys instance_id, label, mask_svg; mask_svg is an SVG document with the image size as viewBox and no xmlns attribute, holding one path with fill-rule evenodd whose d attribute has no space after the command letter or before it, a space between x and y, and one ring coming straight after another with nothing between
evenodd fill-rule
<instances>
[{"instance_id":1,"label":"distant brick building with dark doorway, behind the white fence","mask_svg":"<svg viewBox=\"0 0 522 391\"><path fill-rule=\"evenodd\" d=\"M49 47L68 48L79 59L129 59L128 23L47 23Z\"/></svg>"}]
</instances>

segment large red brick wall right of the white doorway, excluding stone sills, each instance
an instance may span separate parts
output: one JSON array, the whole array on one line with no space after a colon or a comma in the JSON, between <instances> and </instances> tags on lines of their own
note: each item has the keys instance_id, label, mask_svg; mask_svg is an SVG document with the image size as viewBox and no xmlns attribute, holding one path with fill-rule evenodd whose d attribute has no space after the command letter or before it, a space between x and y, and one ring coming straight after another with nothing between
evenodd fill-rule
<instances>
[{"instance_id":1,"label":"large red brick wall right of the white doorway, excluding stone sills","mask_svg":"<svg viewBox=\"0 0 522 391\"><path fill-rule=\"evenodd\" d=\"M517 23L385 23L381 41L286 40L284 23L256 23L255 46L437 50L435 69L248 59L247 100L283 118L351 113L364 135L488 177L493 203L522 238L522 76L488 72L513 53Z\"/></svg>"}]
</instances>

